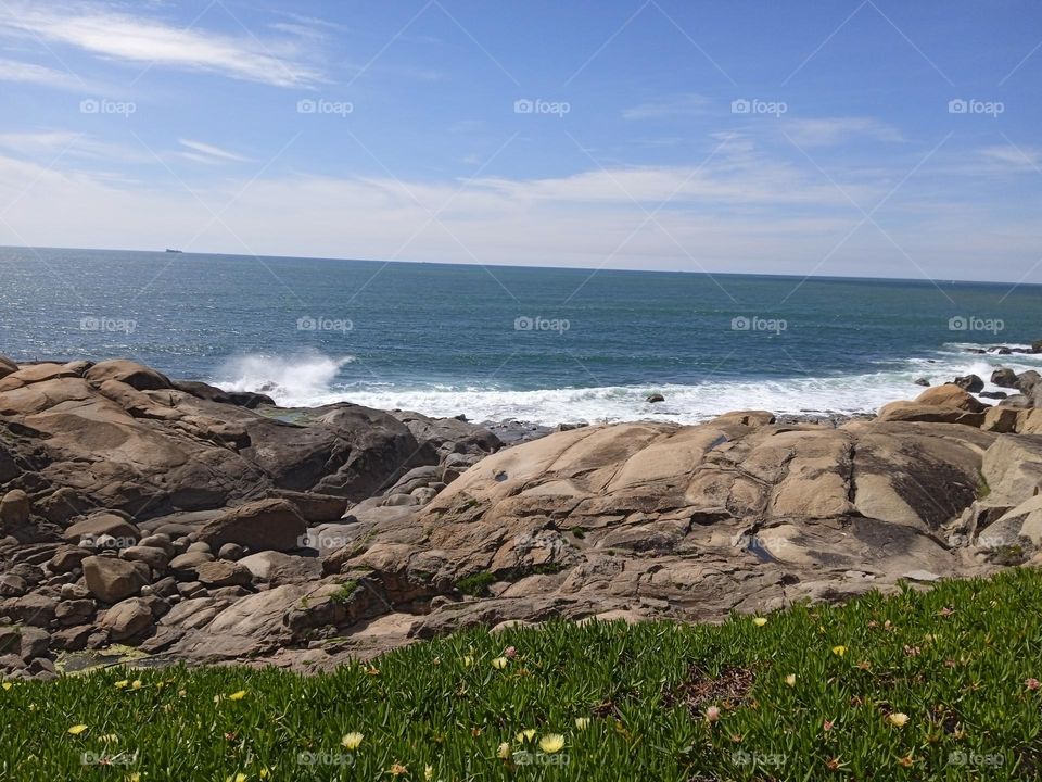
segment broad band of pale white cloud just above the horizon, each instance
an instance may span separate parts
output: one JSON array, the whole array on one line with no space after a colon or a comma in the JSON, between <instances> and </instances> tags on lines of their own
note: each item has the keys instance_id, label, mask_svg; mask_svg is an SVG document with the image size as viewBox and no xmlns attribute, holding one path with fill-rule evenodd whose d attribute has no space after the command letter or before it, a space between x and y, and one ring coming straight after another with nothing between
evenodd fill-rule
<instances>
[{"instance_id":1,"label":"broad band of pale white cloud just above the horizon","mask_svg":"<svg viewBox=\"0 0 1042 782\"><path fill-rule=\"evenodd\" d=\"M10 138L0 137L4 140ZM195 191L189 193L161 168L145 186L0 155L0 207L17 199L0 222L0 244L922 276L872 225L835 250L862 215L810 173L768 163L742 150L686 184L694 171L688 167L618 168L546 179L485 178L458 194L457 181L271 175L201 185L186 176ZM903 189L888 204L901 220L877 218L929 274L1017 279L1038 260L1042 227L1018 223L1001 205L980 209L970 198L974 181L966 198L946 203L936 200L936 190L924 195ZM33 187L22 193L26 182ZM874 203L867 193L878 198L887 184L862 182L862 203ZM647 222L645 210L677 188L682 194L656 222ZM431 220L440 211L444 225ZM981 266L981 257L996 254L1001 267ZM1042 269L1032 281L1040 276Z\"/></svg>"}]
</instances>

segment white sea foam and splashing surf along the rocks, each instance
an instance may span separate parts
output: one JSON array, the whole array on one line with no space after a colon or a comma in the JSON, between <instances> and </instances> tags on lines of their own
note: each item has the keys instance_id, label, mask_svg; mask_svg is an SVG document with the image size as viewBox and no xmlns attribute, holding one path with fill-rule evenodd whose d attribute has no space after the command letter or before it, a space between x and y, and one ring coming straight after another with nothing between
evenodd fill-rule
<instances>
[{"instance_id":1,"label":"white sea foam and splashing surf along the rocks","mask_svg":"<svg viewBox=\"0 0 1042 782\"><path fill-rule=\"evenodd\" d=\"M917 378L938 384L958 375L975 374L987 382L999 366L1016 371L1042 369L1042 355L975 355L965 352L967 346L978 345L945 345L930 358L907 360L899 367L862 375L534 391L444 383L406 388L373 382L364 373L345 377L352 374L341 371L352 361L350 357L251 355L229 363L217 384L227 390L264 391L288 406L355 402L432 416L465 414L470 420L514 418L549 426L562 421L647 419L691 424L735 409L768 409L777 414L874 413L887 402L916 396L923 390L914 383ZM988 383L986 390L1000 389ZM646 402L651 392L664 395L665 402Z\"/></svg>"}]
</instances>

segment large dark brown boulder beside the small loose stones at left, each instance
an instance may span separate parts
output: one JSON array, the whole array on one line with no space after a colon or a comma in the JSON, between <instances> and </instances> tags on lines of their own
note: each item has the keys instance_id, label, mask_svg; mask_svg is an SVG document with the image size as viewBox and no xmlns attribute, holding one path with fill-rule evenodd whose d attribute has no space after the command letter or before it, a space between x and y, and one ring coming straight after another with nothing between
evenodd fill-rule
<instances>
[{"instance_id":1,"label":"large dark brown boulder beside the small loose stones at left","mask_svg":"<svg viewBox=\"0 0 1042 782\"><path fill-rule=\"evenodd\" d=\"M199 531L212 550L238 543L252 552L290 551L301 546L307 525L287 500L259 500L221 514Z\"/></svg>"}]
</instances>

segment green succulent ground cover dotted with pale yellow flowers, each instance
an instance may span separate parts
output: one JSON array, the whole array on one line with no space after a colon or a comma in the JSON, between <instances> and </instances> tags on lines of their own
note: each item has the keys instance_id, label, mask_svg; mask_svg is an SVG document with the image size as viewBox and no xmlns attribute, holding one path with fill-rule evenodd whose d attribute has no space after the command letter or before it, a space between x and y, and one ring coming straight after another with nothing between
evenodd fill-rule
<instances>
[{"instance_id":1,"label":"green succulent ground cover dotted with pale yellow flowers","mask_svg":"<svg viewBox=\"0 0 1042 782\"><path fill-rule=\"evenodd\" d=\"M721 626L475 630L313 677L9 682L0 780L1039 779L1040 605L1018 569Z\"/></svg>"}]
</instances>

